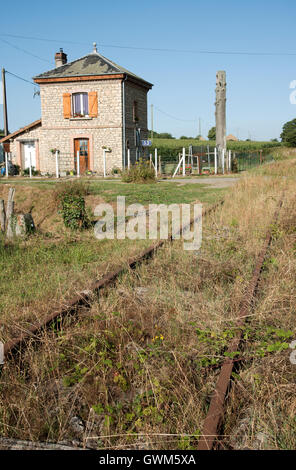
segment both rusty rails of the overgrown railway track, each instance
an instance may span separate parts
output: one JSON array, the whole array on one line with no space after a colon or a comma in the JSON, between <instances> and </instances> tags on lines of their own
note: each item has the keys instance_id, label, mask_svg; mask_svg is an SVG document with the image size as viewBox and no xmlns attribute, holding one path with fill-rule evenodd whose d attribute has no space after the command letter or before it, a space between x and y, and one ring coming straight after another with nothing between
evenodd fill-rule
<instances>
[{"instance_id":1,"label":"both rusty rails of the overgrown railway track","mask_svg":"<svg viewBox=\"0 0 296 470\"><path fill-rule=\"evenodd\" d=\"M275 213L273 215L270 227L275 223L279 217L280 209L283 205L284 196L280 198L280 201L277 205ZM203 212L203 216L215 211L224 201L217 203ZM194 221L191 221L190 225ZM248 284L248 288L241 299L239 304L239 311L237 314L236 329L238 331L237 335L231 340L231 343L227 350L227 357L220 365L220 373L216 382L215 390L212 394L210 401L209 410L204 420L203 430L201 437L199 438L197 450L212 450L219 448L219 437L223 434L221 429L223 426L223 417L224 417L224 408L227 401L228 391L231 387L231 378L232 372L235 364L237 363L236 359L231 359L231 354L238 351L241 345L242 340L242 327L248 317L254 299L257 293L258 282L260 279L261 270L263 263L268 252L269 245L272 240L272 230L269 230L266 233L264 243L261 249L261 252L258 256L252 278ZM171 236L168 240L169 242L173 241ZM72 300L68 303L66 307L61 308L60 310L50 313L46 318L44 318L40 323L35 324L27 329L25 333L20 335L17 338L14 338L4 344L4 358L5 361L13 358L13 356L26 346L26 343L31 340L38 340L42 330L50 327L52 324L57 322L58 319L61 319L70 314L79 314L79 309L81 307L88 307L91 305L93 293L99 292L104 288L109 287L110 285L116 284L117 279L128 269L134 269L140 265L145 260L153 257L159 248L161 248L167 240L159 240L157 243L151 245L149 248L145 249L139 255L129 259L124 265L119 266L113 271L107 273L100 280L95 281L88 291L83 291L77 294Z\"/></svg>"}]
</instances>

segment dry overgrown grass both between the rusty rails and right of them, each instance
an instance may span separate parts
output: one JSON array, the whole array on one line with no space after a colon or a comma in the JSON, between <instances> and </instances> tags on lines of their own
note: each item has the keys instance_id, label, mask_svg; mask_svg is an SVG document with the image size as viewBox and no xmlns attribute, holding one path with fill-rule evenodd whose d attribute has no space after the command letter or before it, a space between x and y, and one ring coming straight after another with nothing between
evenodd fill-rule
<instances>
[{"instance_id":1,"label":"dry overgrown grass both between the rusty rails and right of them","mask_svg":"<svg viewBox=\"0 0 296 470\"><path fill-rule=\"evenodd\" d=\"M227 192L223 207L203 221L198 254L184 251L182 241L164 247L122 276L117 290L94 299L75 326L44 333L38 351L24 352L22 368L8 365L0 433L76 437L99 448L195 448L215 366L235 334L239 301L285 190L224 433L237 448L295 448L288 343L296 339L296 160L278 171L270 164ZM80 432L74 416L82 419Z\"/></svg>"}]
</instances>

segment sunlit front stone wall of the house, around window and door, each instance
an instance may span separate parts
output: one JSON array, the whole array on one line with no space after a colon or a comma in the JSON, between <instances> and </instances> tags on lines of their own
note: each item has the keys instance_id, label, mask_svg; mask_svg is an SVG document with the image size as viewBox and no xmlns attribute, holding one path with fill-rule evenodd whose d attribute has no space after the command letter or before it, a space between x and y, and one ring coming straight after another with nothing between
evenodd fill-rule
<instances>
[{"instance_id":1,"label":"sunlit front stone wall of the house, around window and door","mask_svg":"<svg viewBox=\"0 0 296 470\"><path fill-rule=\"evenodd\" d=\"M122 91L121 80L47 83L40 86L42 128L40 131L40 170L54 172L50 149L60 151L61 171L74 168L74 139L89 139L91 169L103 173L103 149L107 153L107 172L122 167ZM98 116L64 118L63 94L96 91Z\"/></svg>"}]
</instances>

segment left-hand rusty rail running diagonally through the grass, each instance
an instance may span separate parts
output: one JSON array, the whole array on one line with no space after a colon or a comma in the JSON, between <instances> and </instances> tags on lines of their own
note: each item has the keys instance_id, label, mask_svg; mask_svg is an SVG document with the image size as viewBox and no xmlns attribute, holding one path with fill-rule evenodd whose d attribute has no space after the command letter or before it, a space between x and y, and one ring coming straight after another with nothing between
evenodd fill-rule
<instances>
[{"instance_id":1,"label":"left-hand rusty rail running diagonally through the grass","mask_svg":"<svg viewBox=\"0 0 296 470\"><path fill-rule=\"evenodd\" d=\"M208 209L205 209L203 211L203 216L209 215L211 212L215 211L223 203L224 203L224 200L221 200L220 202L213 204ZM188 229L188 227L190 227L194 222L195 222L195 219L191 220L190 224L184 227L184 229L185 230ZM107 274L105 274L101 279L95 281L90 286L89 290L82 291L76 296L74 296L72 300L70 300L67 303L66 307L62 307L61 309L50 313L39 323L36 323L35 325L32 325L32 326L28 326L24 333L22 333L17 338L7 341L4 344L4 348L3 348L4 360L7 359L9 356L13 356L13 354L16 353L21 348L21 346L25 345L25 343L28 340L32 338L36 339L38 334L40 334L42 330L48 328L59 318L63 318L69 314L74 314L77 312L79 307L89 305L91 302L92 294L108 287L111 284L114 284L116 280L118 279L118 277L121 274L123 274L127 269L129 268L134 269L138 264L140 264L144 260L153 257L156 251L159 248L161 248L167 241L172 242L173 240L174 240L173 235L171 235L168 238L168 240L159 240L157 243L146 248L139 255L127 260L127 262L124 265L118 266L113 271L110 271Z\"/></svg>"}]
</instances>

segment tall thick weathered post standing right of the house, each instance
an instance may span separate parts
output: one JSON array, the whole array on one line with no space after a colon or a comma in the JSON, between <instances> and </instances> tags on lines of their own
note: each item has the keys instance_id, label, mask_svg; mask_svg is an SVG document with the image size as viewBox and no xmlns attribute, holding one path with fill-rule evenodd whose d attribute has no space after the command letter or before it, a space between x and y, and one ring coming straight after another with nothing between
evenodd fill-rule
<instances>
[{"instance_id":1,"label":"tall thick weathered post standing right of the house","mask_svg":"<svg viewBox=\"0 0 296 470\"><path fill-rule=\"evenodd\" d=\"M216 145L218 148L218 167L222 167L222 150L226 153L226 72L216 74Z\"/></svg>"}]
</instances>

